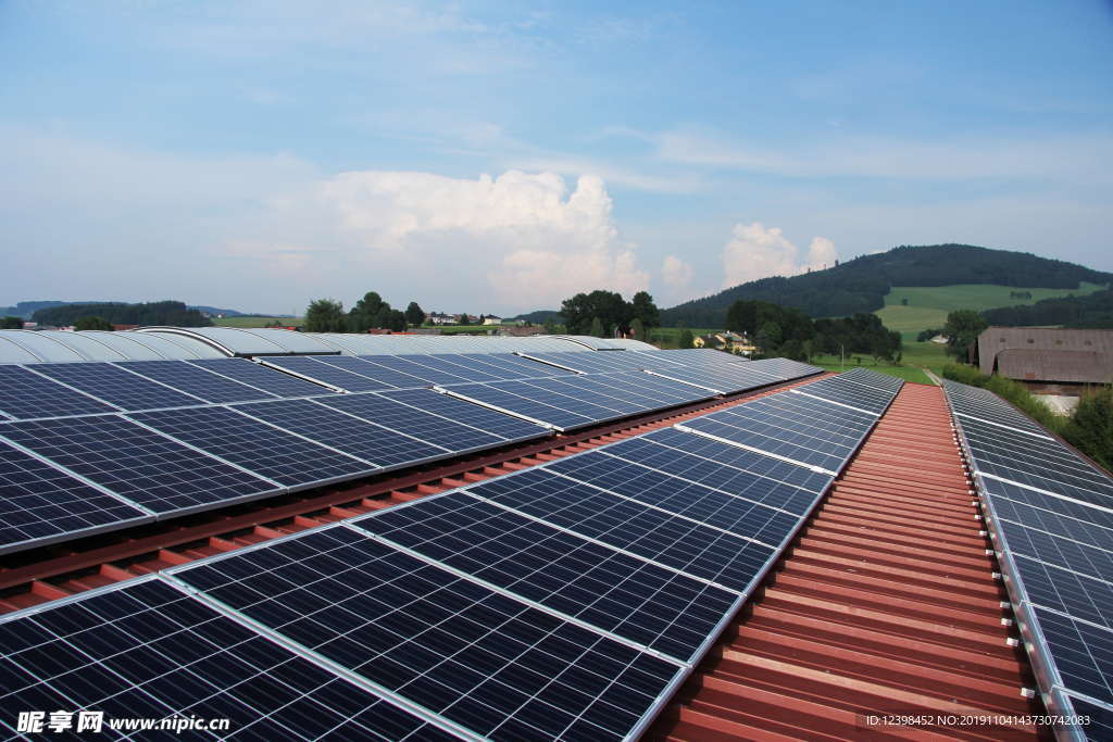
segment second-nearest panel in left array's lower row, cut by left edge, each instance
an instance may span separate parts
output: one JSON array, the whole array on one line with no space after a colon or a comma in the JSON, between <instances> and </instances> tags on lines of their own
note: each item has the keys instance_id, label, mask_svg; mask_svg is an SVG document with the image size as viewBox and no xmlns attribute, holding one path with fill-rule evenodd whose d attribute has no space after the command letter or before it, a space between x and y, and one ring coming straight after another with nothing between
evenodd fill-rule
<instances>
[{"instance_id":1,"label":"second-nearest panel in left array's lower row, cut by left edge","mask_svg":"<svg viewBox=\"0 0 1113 742\"><path fill-rule=\"evenodd\" d=\"M282 491L116 415L8 423L3 435L160 515Z\"/></svg>"}]
</instances>

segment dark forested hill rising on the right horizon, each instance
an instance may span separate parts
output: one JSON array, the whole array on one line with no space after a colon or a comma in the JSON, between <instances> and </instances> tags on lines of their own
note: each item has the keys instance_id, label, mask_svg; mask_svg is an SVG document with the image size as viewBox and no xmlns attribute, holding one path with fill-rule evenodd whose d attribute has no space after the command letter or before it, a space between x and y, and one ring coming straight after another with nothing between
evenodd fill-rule
<instances>
[{"instance_id":1,"label":"dark forested hill rising on the right horizon","mask_svg":"<svg viewBox=\"0 0 1113 742\"><path fill-rule=\"evenodd\" d=\"M1093 291L1094 285L1104 286L1111 281L1113 274L1028 253L973 245L902 246L886 253L864 255L827 270L815 270L789 278L775 276L735 286L713 296L664 309L661 311L661 319L667 326L683 323L689 327L720 327L725 324L727 309L738 299L761 299L795 307L812 317L838 317L858 311L884 310L886 297L892 295L894 287L939 289L932 298L915 297L920 304L914 304L914 297L907 297L908 307L922 309L966 307L965 304L961 307L952 306L951 299L976 299L993 304L998 295L1003 300L994 306L1009 306L1070 293ZM964 286L975 288L961 288ZM999 288L1001 291L976 288L985 286ZM1037 289L1056 291L1037 294ZM1031 291L1032 299L1011 299L1011 290ZM899 305L900 298L896 296L895 303ZM918 329L925 329L932 325L919 325L930 317L932 315L922 314L918 318L909 316L907 320L915 321Z\"/></svg>"}]
</instances>

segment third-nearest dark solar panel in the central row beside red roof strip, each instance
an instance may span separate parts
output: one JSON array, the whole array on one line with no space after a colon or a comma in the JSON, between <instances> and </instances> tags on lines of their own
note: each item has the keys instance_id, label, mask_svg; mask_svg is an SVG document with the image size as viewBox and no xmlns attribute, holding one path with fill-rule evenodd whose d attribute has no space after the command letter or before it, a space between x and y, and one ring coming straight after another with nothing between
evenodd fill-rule
<instances>
[{"instance_id":1,"label":"third-nearest dark solar panel in the central row beside red roof strip","mask_svg":"<svg viewBox=\"0 0 1113 742\"><path fill-rule=\"evenodd\" d=\"M681 661L737 595L451 493L355 524L526 600Z\"/></svg>"}]
</instances>

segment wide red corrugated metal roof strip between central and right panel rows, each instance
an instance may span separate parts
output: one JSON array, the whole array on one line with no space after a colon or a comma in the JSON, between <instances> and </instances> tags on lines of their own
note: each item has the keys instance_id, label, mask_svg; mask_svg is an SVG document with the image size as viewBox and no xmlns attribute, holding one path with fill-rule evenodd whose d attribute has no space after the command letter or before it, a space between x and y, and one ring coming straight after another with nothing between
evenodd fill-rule
<instances>
[{"instance_id":1,"label":"wide red corrugated metal roof strip between central and right panel rows","mask_svg":"<svg viewBox=\"0 0 1113 742\"><path fill-rule=\"evenodd\" d=\"M865 715L1040 713L942 389L908 384L658 720L673 740L1037 739ZM1007 605L1007 604L1006 604Z\"/></svg>"}]
</instances>

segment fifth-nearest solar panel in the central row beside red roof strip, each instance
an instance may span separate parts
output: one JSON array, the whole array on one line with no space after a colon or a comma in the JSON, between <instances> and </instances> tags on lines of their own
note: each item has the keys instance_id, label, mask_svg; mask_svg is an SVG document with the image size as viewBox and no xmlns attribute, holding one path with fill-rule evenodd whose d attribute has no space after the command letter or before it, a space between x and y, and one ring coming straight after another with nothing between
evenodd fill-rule
<instances>
[{"instance_id":1,"label":"fifth-nearest solar panel in the central row beside red roof strip","mask_svg":"<svg viewBox=\"0 0 1113 742\"><path fill-rule=\"evenodd\" d=\"M762 483L757 477L751 477L752 482L748 484L755 489L757 497L768 502L747 499L722 489L687 482L598 451L553 462L545 468L632 502L674 513L771 547L778 547L799 522L798 516L772 504L781 502L774 494L778 489L777 485ZM799 494L799 491L784 485L779 489L782 494Z\"/></svg>"}]
</instances>

